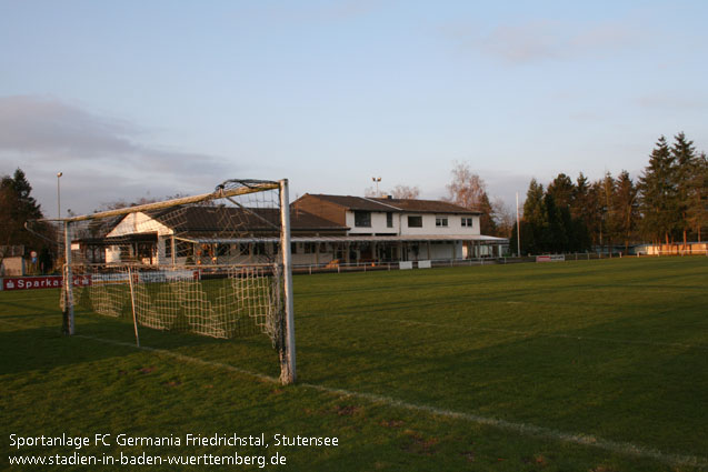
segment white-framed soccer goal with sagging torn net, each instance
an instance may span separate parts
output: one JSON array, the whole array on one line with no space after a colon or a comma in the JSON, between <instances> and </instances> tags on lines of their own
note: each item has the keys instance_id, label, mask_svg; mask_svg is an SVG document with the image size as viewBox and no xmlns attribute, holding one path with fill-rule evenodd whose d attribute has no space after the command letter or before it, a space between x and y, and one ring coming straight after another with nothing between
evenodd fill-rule
<instances>
[{"instance_id":1,"label":"white-framed soccer goal with sagging torn net","mask_svg":"<svg viewBox=\"0 0 708 472\"><path fill-rule=\"evenodd\" d=\"M63 221L64 332L74 312L142 329L270 338L296 380L288 181L228 180L213 192Z\"/></svg>"}]
</instances>

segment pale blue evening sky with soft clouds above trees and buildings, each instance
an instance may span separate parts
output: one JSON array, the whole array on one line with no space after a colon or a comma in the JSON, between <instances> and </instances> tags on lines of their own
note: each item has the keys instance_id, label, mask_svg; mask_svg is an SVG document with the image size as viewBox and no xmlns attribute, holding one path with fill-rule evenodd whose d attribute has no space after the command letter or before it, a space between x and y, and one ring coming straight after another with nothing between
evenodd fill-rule
<instances>
[{"instance_id":1,"label":"pale blue evening sky with soft clouds above trees and buildings","mask_svg":"<svg viewBox=\"0 0 708 472\"><path fill-rule=\"evenodd\" d=\"M509 207L531 178L708 151L708 2L0 0L0 174L47 217L226 179Z\"/></svg>"}]
</instances>

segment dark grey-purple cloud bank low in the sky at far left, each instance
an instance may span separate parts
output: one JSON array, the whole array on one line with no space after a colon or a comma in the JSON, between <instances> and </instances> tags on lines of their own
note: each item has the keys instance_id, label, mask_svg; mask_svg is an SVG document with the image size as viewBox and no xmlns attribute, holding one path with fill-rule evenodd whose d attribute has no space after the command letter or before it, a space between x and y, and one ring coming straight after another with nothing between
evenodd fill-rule
<instances>
[{"instance_id":1,"label":"dark grey-purple cloud bank low in the sky at far left","mask_svg":"<svg viewBox=\"0 0 708 472\"><path fill-rule=\"evenodd\" d=\"M167 179L223 169L213 155L147 145L146 130L101 117L58 100L32 96L0 98L0 162L13 155L33 163L102 167L133 175L160 174ZM129 172L128 172L129 171Z\"/></svg>"}]
</instances>

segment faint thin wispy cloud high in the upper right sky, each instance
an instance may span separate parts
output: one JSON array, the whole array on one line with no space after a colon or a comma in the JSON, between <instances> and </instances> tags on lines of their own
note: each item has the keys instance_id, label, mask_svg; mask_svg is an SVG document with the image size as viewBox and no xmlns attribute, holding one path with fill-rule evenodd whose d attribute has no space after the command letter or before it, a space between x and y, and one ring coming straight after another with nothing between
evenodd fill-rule
<instances>
[{"instance_id":1,"label":"faint thin wispy cloud high in the upper right sky","mask_svg":"<svg viewBox=\"0 0 708 472\"><path fill-rule=\"evenodd\" d=\"M448 26L445 32L465 49L510 64L606 54L636 44L639 39L639 33L620 22L577 26L535 20L500 24L487 32L470 24Z\"/></svg>"}]
</instances>

